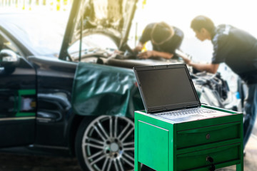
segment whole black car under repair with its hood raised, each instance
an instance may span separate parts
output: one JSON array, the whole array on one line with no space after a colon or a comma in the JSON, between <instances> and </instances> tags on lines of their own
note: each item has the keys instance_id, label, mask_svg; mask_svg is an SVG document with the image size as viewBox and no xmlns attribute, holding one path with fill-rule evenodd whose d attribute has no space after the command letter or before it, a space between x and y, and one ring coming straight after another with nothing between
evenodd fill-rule
<instances>
[{"instance_id":1,"label":"whole black car under repair with its hood raised","mask_svg":"<svg viewBox=\"0 0 257 171\"><path fill-rule=\"evenodd\" d=\"M46 46L28 38L44 40L54 27L26 33L24 20L0 16L2 150L73 156L82 170L133 170L133 112L143 103L132 67L181 62L136 58L127 44L135 11L136 0L73 1L62 43L54 35ZM200 99L226 105L226 81L191 74Z\"/></svg>"}]
</instances>

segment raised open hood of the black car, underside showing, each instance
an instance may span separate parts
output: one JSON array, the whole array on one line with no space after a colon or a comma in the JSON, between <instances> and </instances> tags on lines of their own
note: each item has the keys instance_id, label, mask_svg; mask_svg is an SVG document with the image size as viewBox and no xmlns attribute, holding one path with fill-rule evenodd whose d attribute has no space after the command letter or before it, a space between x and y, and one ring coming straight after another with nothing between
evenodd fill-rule
<instances>
[{"instance_id":1,"label":"raised open hood of the black car, underside showing","mask_svg":"<svg viewBox=\"0 0 257 171\"><path fill-rule=\"evenodd\" d=\"M119 48L127 41L137 0L76 0L66 27L60 58L66 58L67 48L83 36L103 33Z\"/></svg>"}]
</instances>

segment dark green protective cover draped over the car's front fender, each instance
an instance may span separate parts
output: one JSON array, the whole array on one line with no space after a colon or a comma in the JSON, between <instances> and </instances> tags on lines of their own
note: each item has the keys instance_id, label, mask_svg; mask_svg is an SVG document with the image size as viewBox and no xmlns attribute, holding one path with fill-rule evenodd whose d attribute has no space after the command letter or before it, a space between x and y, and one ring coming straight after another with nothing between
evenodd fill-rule
<instances>
[{"instance_id":1,"label":"dark green protective cover draped over the car's front fender","mask_svg":"<svg viewBox=\"0 0 257 171\"><path fill-rule=\"evenodd\" d=\"M143 103L131 69L78 63L72 107L78 115L122 115L133 118Z\"/></svg>"}]
</instances>

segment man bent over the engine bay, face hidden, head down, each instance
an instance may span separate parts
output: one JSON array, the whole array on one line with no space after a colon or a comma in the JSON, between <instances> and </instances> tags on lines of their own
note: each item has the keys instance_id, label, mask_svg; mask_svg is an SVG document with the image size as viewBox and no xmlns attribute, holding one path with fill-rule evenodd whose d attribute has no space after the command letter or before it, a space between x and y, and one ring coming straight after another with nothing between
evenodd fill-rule
<instances>
[{"instance_id":1,"label":"man bent over the engine bay, face hidden, head down","mask_svg":"<svg viewBox=\"0 0 257 171\"><path fill-rule=\"evenodd\" d=\"M165 22L148 24L144 28L138 45L133 51L141 52L147 41L151 41L153 51L138 53L138 58L166 58L178 59L175 56L176 48L181 46L183 31Z\"/></svg>"}]
</instances>

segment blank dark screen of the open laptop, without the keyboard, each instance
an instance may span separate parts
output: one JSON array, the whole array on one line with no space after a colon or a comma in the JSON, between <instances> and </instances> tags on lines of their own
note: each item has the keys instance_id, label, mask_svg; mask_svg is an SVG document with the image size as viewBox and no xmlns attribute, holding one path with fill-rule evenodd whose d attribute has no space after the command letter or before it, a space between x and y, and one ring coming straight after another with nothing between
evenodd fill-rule
<instances>
[{"instance_id":1,"label":"blank dark screen of the open laptop, without the keyboard","mask_svg":"<svg viewBox=\"0 0 257 171\"><path fill-rule=\"evenodd\" d=\"M186 65L134 68L146 110L174 110L200 105Z\"/></svg>"}]
</instances>

